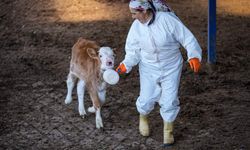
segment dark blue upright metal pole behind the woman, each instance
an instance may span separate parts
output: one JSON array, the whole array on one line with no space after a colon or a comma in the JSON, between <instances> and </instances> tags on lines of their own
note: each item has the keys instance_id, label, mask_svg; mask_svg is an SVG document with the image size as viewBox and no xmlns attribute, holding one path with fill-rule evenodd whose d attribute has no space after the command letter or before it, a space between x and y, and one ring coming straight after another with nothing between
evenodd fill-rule
<instances>
[{"instance_id":1,"label":"dark blue upright metal pole behind the woman","mask_svg":"<svg viewBox=\"0 0 250 150\"><path fill-rule=\"evenodd\" d=\"M216 62L216 0L208 2L208 63Z\"/></svg>"}]
</instances>

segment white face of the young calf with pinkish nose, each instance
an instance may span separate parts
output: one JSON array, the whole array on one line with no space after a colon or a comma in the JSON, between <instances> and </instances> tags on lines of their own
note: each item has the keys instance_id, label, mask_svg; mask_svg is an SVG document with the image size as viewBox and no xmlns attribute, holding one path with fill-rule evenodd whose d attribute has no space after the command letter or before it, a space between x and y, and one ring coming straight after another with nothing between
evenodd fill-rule
<instances>
[{"instance_id":1,"label":"white face of the young calf with pinkish nose","mask_svg":"<svg viewBox=\"0 0 250 150\"><path fill-rule=\"evenodd\" d=\"M101 47L99 50L99 58L101 60L101 69L113 69L114 52L110 47Z\"/></svg>"}]
</instances>

